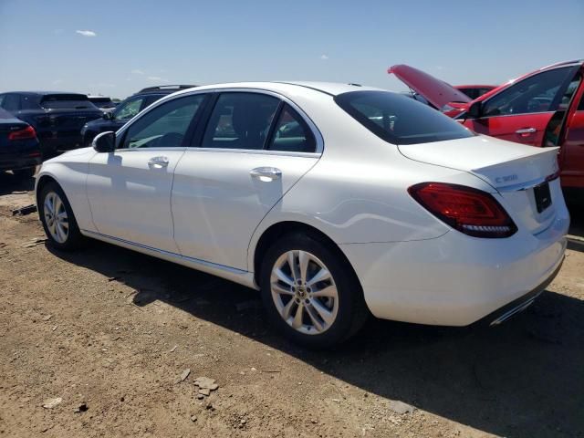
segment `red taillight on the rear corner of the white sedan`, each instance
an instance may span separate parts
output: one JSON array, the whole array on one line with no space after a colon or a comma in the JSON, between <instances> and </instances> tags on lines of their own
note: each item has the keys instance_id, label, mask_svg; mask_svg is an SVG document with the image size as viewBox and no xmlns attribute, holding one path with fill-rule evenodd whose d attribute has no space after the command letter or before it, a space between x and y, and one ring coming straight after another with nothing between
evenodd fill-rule
<instances>
[{"instance_id":1,"label":"red taillight on the rear corner of the white sedan","mask_svg":"<svg viewBox=\"0 0 584 438\"><path fill-rule=\"evenodd\" d=\"M517 231L493 195L471 187L420 183L408 189L418 203L456 230L474 237L508 237Z\"/></svg>"}]
</instances>

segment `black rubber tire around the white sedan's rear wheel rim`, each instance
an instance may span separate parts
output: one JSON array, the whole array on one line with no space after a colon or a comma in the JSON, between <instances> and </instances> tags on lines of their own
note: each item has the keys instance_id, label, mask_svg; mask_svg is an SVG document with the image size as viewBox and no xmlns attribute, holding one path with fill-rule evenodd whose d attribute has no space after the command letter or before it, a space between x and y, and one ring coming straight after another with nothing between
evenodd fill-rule
<instances>
[{"instance_id":1,"label":"black rubber tire around the white sedan's rear wheel rim","mask_svg":"<svg viewBox=\"0 0 584 438\"><path fill-rule=\"evenodd\" d=\"M336 318L329 328L318 334L305 334L292 328L280 315L272 297L270 284L272 269L281 255L293 250L306 251L318 257L318 260L327 267L337 287L339 308ZM359 279L349 262L339 254L338 248L323 242L317 235L295 233L277 240L266 251L262 261L260 287L262 300L272 325L287 339L310 349L327 349L349 339L360 330L370 316ZM307 317L308 313L305 319Z\"/></svg>"}]
</instances>

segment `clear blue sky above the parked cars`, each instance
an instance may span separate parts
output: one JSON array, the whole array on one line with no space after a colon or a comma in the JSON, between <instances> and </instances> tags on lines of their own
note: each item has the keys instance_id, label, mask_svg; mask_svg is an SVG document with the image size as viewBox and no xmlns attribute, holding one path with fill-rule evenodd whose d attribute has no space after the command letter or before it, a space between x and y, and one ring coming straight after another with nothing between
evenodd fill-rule
<instances>
[{"instance_id":1,"label":"clear blue sky above the parked cars","mask_svg":"<svg viewBox=\"0 0 584 438\"><path fill-rule=\"evenodd\" d=\"M0 91L327 80L498 84L584 57L584 0L0 0Z\"/></svg>"}]
</instances>

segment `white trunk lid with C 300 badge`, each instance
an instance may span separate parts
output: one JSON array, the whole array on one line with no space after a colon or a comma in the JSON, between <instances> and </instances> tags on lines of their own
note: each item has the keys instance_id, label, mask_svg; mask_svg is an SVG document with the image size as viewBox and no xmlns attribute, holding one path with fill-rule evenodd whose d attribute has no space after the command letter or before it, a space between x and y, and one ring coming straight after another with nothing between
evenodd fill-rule
<instances>
[{"instance_id":1,"label":"white trunk lid with C 300 badge","mask_svg":"<svg viewBox=\"0 0 584 438\"><path fill-rule=\"evenodd\" d=\"M499 201L516 225L534 235L552 224L556 205L563 203L557 182L552 183L550 194L545 187L547 177L558 172L558 149L486 136L399 147L402 155L414 161L469 172L482 179L500 193L503 199ZM546 196L551 196L551 204L541 209Z\"/></svg>"}]
</instances>

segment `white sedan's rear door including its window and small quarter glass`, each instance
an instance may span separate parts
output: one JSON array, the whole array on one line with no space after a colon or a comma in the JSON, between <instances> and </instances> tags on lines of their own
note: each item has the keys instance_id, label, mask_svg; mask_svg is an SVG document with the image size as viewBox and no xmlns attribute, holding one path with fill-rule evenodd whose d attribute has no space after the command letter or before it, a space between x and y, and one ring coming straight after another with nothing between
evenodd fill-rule
<instances>
[{"instance_id":1,"label":"white sedan's rear door including its window and small quarter glass","mask_svg":"<svg viewBox=\"0 0 584 438\"><path fill-rule=\"evenodd\" d=\"M248 269L255 227L318 162L322 141L309 123L267 92L218 95L175 170L172 214L182 255Z\"/></svg>"}]
</instances>

